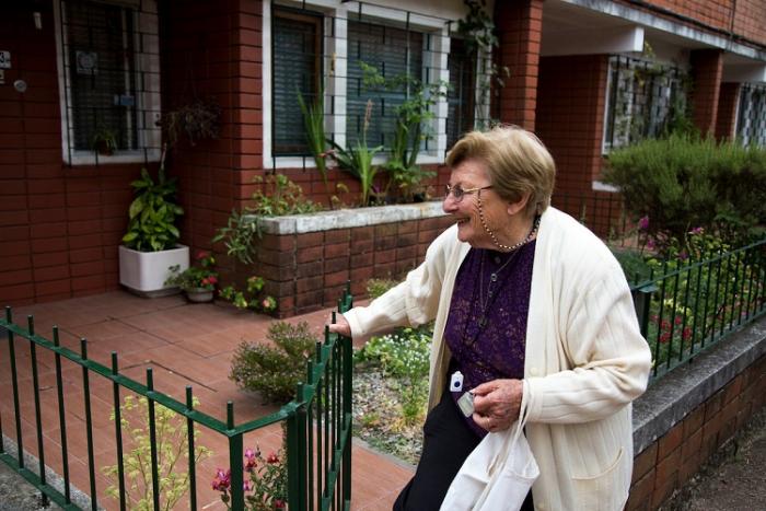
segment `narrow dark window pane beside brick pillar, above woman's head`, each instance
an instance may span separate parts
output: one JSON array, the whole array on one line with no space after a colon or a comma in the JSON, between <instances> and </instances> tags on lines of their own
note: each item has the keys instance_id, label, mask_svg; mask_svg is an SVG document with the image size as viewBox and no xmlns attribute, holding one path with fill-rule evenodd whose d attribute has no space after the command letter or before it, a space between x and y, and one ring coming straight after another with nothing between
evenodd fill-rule
<instances>
[{"instance_id":1,"label":"narrow dark window pane beside brick pillar, above woman's head","mask_svg":"<svg viewBox=\"0 0 766 511\"><path fill-rule=\"evenodd\" d=\"M448 149L454 146L463 133L474 129L475 66L475 59L468 55L463 39L452 38L448 57L450 70L450 91L446 95Z\"/></svg>"}]
</instances>

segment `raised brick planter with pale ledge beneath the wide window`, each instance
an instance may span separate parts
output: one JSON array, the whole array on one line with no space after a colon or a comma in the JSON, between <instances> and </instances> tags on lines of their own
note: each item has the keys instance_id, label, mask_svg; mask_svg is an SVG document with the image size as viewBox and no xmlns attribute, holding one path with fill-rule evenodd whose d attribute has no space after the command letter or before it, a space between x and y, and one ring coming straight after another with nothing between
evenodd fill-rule
<instances>
[{"instance_id":1,"label":"raised brick planter with pale ledge beneath the wide window","mask_svg":"<svg viewBox=\"0 0 766 511\"><path fill-rule=\"evenodd\" d=\"M401 277L452 220L441 201L262 220L254 270L289 317L334 305L344 286L363 297L370 278Z\"/></svg>"}]
</instances>

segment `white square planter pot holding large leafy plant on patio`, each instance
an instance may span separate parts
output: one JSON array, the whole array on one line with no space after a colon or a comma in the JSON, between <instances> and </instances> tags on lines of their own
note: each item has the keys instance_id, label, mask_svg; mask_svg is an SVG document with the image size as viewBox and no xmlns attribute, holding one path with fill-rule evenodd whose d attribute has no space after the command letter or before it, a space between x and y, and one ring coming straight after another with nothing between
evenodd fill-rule
<instances>
[{"instance_id":1,"label":"white square planter pot holding large leafy plant on patio","mask_svg":"<svg viewBox=\"0 0 766 511\"><path fill-rule=\"evenodd\" d=\"M161 252L138 252L120 245L119 283L136 294L143 297L163 297L178 292L177 287L165 286L170 277L170 267L178 265L184 271L189 267L189 247L176 245L175 248Z\"/></svg>"}]
</instances>

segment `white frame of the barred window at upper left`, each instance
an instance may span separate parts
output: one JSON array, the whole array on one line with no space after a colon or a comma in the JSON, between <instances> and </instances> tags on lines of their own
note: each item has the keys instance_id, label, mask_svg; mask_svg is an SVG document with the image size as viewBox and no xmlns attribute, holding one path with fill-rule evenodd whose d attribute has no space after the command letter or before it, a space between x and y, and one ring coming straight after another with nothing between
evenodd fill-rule
<instances>
[{"instance_id":1,"label":"white frame of the barred window at upper left","mask_svg":"<svg viewBox=\"0 0 766 511\"><path fill-rule=\"evenodd\" d=\"M134 72L137 83L143 74L143 90L137 91L136 109L143 116L144 128L139 128L138 149L118 150L112 155L96 155L94 151L76 150L70 148L70 132L74 126L72 118L72 101L70 91L70 62L68 50L68 34L62 31L62 12L60 3L54 1L54 25L56 27L56 60L58 68L59 106L61 109L61 155L69 165L96 165L108 163L143 163L159 162L161 156L162 130L156 126L161 115L160 96L160 35L156 0L112 0L103 3L134 9L134 44L136 51Z\"/></svg>"}]
</instances>

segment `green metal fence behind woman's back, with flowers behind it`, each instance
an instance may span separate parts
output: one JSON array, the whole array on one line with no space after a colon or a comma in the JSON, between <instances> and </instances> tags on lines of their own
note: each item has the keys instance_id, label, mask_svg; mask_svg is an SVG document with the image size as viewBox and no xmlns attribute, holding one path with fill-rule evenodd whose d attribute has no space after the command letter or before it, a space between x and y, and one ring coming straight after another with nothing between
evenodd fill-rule
<instances>
[{"instance_id":1,"label":"green metal fence behind woman's back, with flowers behind it","mask_svg":"<svg viewBox=\"0 0 766 511\"><path fill-rule=\"evenodd\" d=\"M636 280L630 289L657 379L766 312L766 240L666 262Z\"/></svg>"}]
</instances>

